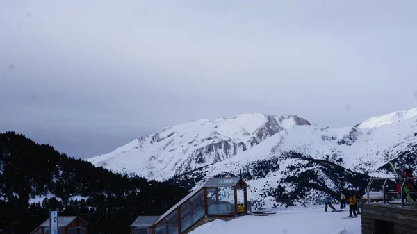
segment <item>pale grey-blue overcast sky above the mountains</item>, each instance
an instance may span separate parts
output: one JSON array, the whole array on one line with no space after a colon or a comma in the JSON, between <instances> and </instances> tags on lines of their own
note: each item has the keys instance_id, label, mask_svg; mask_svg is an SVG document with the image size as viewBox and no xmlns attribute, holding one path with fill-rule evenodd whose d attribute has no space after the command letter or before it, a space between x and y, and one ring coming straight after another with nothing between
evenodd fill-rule
<instances>
[{"instance_id":1,"label":"pale grey-blue overcast sky above the mountains","mask_svg":"<svg viewBox=\"0 0 417 234\"><path fill-rule=\"evenodd\" d=\"M417 1L0 0L0 132L74 158L243 113L417 106Z\"/></svg>"}]
</instances>

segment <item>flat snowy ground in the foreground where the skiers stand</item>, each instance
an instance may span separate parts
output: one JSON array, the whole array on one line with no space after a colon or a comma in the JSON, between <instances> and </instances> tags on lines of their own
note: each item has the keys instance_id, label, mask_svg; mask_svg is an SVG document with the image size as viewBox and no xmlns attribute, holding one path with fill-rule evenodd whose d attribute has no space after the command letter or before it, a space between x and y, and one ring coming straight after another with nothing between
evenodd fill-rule
<instances>
[{"instance_id":1,"label":"flat snowy ground in the foreground where the skiers stand","mask_svg":"<svg viewBox=\"0 0 417 234\"><path fill-rule=\"evenodd\" d=\"M334 205L337 209L336 205ZM324 206L274 210L275 215L247 215L231 221L215 220L199 226L190 234L360 234L361 218L342 219L343 212L325 212Z\"/></svg>"}]
</instances>

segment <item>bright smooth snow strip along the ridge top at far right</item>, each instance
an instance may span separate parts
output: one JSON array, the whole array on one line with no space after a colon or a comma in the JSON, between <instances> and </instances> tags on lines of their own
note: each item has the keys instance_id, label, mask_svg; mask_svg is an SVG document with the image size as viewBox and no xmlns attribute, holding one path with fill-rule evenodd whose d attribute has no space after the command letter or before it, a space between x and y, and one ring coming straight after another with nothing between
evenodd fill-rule
<instances>
[{"instance_id":1,"label":"bright smooth snow strip along the ridge top at far right","mask_svg":"<svg viewBox=\"0 0 417 234\"><path fill-rule=\"evenodd\" d=\"M417 116L417 108L398 111L398 112L392 112L387 115L381 115L381 116L367 119L366 121L359 124L358 127L359 128L376 128L384 124L392 124L395 122L401 122L404 119L409 119L415 116Z\"/></svg>"}]
</instances>

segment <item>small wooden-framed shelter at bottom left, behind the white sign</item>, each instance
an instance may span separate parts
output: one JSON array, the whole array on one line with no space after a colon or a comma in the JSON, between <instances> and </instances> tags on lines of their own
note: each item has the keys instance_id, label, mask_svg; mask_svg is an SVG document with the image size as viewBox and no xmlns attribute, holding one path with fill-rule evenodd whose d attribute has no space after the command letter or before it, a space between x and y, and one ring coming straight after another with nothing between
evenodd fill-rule
<instances>
[{"instance_id":1,"label":"small wooden-framed shelter at bottom left, behind the white sign","mask_svg":"<svg viewBox=\"0 0 417 234\"><path fill-rule=\"evenodd\" d=\"M88 222L76 216L59 216L59 234L87 234ZM49 219L40 224L31 234L50 234Z\"/></svg>"}]
</instances>

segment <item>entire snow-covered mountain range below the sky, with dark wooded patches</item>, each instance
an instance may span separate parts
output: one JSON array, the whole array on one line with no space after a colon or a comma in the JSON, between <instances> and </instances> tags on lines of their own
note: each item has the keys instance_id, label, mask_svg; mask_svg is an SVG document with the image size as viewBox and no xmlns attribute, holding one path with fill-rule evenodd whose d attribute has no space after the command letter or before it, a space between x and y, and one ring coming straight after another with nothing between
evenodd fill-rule
<instances>
[{"instance_id":1,"label":"entire snow-covered mountain range below the sky, with dark wooded patches","mask_svg":"<svg viewBox=\"0 0 417 234\"><path fill-rule=\"evenodd\" d=\"M257 208L290 200L314 203L343 185L363 192L369 176L391 174L389 161L417 169L417 108L345 128L260 114L199 120L90 159L191 188L211 177L240 175Z\"/></svg>"}]
</instances>

